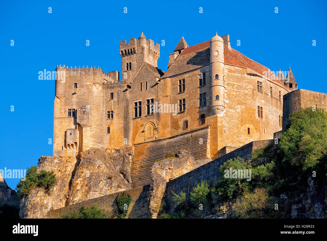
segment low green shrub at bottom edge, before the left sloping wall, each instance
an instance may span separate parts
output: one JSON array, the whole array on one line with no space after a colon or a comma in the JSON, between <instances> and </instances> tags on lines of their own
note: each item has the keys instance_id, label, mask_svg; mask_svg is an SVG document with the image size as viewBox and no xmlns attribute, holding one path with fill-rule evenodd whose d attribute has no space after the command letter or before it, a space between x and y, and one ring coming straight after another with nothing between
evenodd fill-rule
<instances>
[{"instance_id":1,"label":"low green shrub at bottom edge, before the left sloping wall","mask_svg":"<svg viewBox=\"0 0 327 241\"><path fill-rule=\"evenodd\" d=\"M81 208L79 211L63 214L61 218L109 218L109 213L99 209L95 203L92 208Z\"/></svg>"}]
</instances>

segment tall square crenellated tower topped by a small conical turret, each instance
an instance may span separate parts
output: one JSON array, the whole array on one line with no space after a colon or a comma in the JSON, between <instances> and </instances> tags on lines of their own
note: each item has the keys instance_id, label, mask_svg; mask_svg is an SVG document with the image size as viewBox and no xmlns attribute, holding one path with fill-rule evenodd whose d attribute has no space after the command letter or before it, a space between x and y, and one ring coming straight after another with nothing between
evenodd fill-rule
<instances>
[{"instance_id":1,"label":"tall square crenellated tower topped by a small conical turret","mask_svg":"<svg viewBox=\"0 0 327 241\"><path fill-rule=\"evenodd\" d=\"M119 54L122 56L122 80L131 80L143 63L157 68L160 56L160 44L146 39L142 32L138 39L130 38L119 42Z\"/></svg>"}]
</instances>

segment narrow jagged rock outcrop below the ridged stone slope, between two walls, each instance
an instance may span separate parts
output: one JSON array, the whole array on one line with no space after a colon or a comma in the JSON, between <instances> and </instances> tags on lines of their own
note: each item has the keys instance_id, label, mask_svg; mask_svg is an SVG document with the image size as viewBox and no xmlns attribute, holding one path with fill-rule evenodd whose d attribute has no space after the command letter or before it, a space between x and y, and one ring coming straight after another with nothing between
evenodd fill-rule
<instances>
[{"instance_id":1,"label":"narrow jagged rock outcrop below the ridged stone slope, between two walls","mask_svg":"<svg viewBox=\"0 0 327 241\"><path fill-rule=\"evenodd\" d=\"M211 161L211 159L195 160L186 150L180 150L177 155L176 158L157 161L151 167L152 182L149 191L151 218L158 216L166 182Z\"/></svg>"}]
</instances>

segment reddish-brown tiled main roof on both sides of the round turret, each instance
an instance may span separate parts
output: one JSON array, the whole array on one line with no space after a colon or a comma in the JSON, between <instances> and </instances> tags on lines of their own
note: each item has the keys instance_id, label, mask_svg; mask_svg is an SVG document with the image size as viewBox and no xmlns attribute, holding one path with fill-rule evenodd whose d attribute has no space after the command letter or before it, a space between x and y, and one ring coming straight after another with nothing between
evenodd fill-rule
<instances>
[{"instance_id":1,"label":"reddish-brown tiled main roof on both sides of the round turret","mask_svg":"<svg viewBox=\"0 0 327 241\"><path fill-rule=\"evenodd\" d=\"M210 40L184 49L177 57L177 59L171 64L171 66L162 78L181 74L202 66L209 65L209 53ZM255 62L254 60L248 58L244 54L234 49L229 50L226 45L224 45L224 62L228 65L236 65L254 70L260 75L267 76L267 73L269 73L270 76L267 77L270 80L278 83L279 85L285 88L284 84L266 66Z\"/></svg>"}]
</instances>

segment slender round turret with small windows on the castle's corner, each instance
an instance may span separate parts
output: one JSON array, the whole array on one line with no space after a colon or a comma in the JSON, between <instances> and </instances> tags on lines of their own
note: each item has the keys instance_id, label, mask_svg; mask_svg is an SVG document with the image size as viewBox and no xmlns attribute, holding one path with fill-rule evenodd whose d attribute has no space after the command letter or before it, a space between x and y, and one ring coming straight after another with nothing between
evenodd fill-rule
<instances>
[{"instance_id":1,"label":"slender round turret with small windows on the castle's corner","mask_svg":"<svg viewBox=\"0 0 327 241\"><path fill-rule=\"evenodd\" d=\"M210 40L210 73L210 107L213 114L220 114L225 110L224 40L217 33Z\"/></svg>"}]
</instances>

